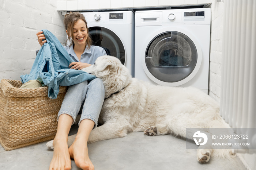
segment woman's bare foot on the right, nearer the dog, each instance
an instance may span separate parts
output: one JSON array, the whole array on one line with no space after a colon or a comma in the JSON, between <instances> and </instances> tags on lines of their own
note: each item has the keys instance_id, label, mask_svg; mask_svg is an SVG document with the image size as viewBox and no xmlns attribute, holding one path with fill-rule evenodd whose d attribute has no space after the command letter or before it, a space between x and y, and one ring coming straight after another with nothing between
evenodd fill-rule
<instances>
[{"instance_id":1,"label":"woman's bare foot on the right, nearer the dog","mask_svg":"<svg viewBox=\"0 0 256 170\"><path fill-rule=\"evenodd\" d=\"M93 163L89 159L88 155L87 140L77 136L68 151L70 157L74 159L76 166L83 170L94 170Z\"/></svg>"}]
</instances>

